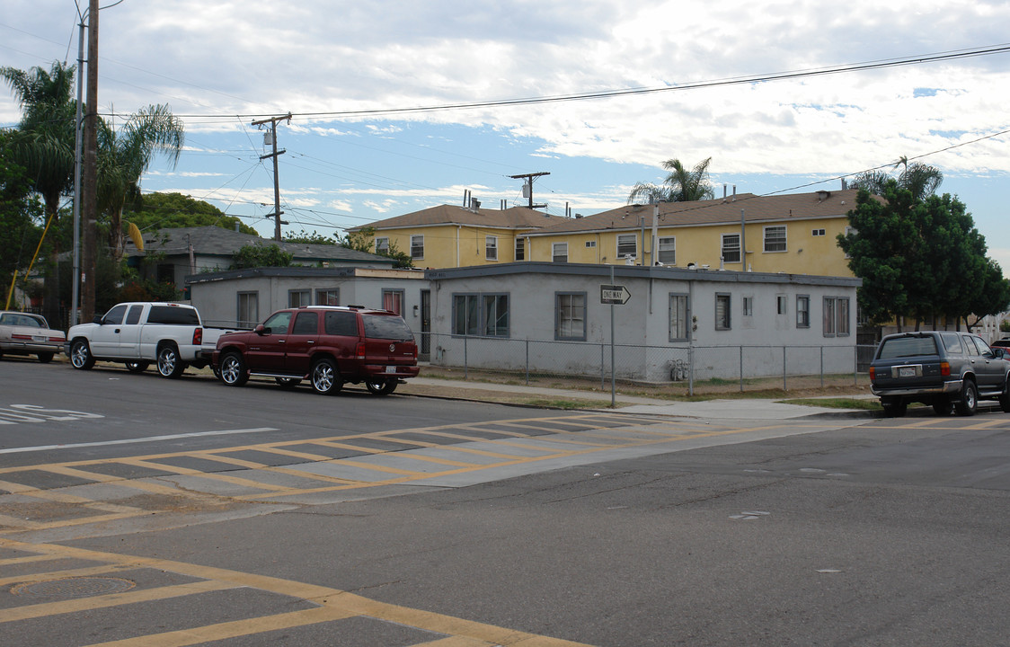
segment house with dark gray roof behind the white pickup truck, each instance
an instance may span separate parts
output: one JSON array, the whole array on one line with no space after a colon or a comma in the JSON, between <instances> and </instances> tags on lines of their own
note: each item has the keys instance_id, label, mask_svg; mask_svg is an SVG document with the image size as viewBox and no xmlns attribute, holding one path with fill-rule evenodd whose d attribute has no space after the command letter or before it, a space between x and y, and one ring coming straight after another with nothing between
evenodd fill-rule
<instances>
[{"instance_id":1,"label":"house with dark gray roof behind the white pickup truck","mask_svg":"<svg viewBox=\"0 0 1010 647\"><path fill-rule=\"evenodd\" d=\"M179 289L190 275L231 267L232 255L245 245L278 245L294 254L292 262L317 267L391 268L392 258L348 249L341 245L316 245L270 240L221 227L179 227L143 234L143 250L127 242L123 255L143 278L172 283ZM146 258L147 262L141 262Z\"/></svg>"}]
</instances>

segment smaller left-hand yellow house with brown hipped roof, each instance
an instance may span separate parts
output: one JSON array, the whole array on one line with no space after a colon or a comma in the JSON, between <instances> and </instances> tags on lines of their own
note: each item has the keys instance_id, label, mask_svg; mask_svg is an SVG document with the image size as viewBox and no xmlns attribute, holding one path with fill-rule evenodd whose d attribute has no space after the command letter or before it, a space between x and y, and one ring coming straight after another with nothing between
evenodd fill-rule
<instances>
[{"instance_id":1,"label":"smaller left-hand yellow house with brown hipped roof","mask_svg":"<svg viewBox=\"0 0 1010 647\"><path fill-rule=\"evenodd\" d=\"M527 209L438 205L350 229L375 229L377 252L395 246L415 267L466 267L527 260L526 234L567 222Z\"/></svg>"}]
</instances>

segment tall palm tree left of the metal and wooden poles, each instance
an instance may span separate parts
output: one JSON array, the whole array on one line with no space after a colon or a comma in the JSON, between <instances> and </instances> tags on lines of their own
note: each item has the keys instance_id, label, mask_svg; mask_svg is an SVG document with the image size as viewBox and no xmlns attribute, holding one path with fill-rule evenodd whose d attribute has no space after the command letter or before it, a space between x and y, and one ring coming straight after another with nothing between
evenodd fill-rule
<instances>
[{"instance_id":1,"label":"tall palm tree left of the metal and wooden poles","mask_svg":"<svg viewBox=\"0 0 1010 647\"><path fill-rule=\"evenodd\" d=\"M0 68L0 77L11 87L21 105L21 121L14 131L12 149L16 161L25 169L32 189L41 196L50 231L58 231L60 201L74 180L75 111L74 66L55 62L49 72L35 67L28 71ZM60 254L54 236L50 260L56 267ZM45 316L59 318L59 281L45 277Z\"/></svg>"}]
</instances>

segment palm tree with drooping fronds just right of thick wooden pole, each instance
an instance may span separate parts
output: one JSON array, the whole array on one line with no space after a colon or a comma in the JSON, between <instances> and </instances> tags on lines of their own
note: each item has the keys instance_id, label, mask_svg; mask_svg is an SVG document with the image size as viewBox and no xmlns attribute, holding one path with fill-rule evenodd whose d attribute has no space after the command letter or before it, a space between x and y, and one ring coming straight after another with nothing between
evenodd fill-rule
<instances>
[{"instance_id":1,"label":"palm tree with drooping fronds just right of thick wooden pole","mask_svg":"<svg viewBox=\"0 0 1010 647\"><path fill-rule=\"evenodd\" d=\"M104 119L98 133L98 206L109 218L109 248L122 257L123 206L140 197L140 177L159 153L173 167L185 139L183 122L165 105L148 106L130 115L118 131Z\"/></svg>"}]
</instances>

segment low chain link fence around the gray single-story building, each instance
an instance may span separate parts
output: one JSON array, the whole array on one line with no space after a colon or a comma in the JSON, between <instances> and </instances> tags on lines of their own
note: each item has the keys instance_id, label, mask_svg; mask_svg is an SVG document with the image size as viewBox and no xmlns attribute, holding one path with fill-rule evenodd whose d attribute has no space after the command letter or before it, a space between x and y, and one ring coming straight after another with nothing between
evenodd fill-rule
<instances>
[{"instance_id":1,"label":"low chain link fence around the gray single-story building","mask_svg":"<svg viewBox=\"0 0 1010 647\"><path fill-rule=\"evenodd\" d=\"M425 340L424 337L427 337ZM416 334L425 371L464 380L550 384L687 396L733 391L868 387L875 346L694 346L614 344ZM424 357L422 357L424 359Z\"/></svg>"}]
</instances>

